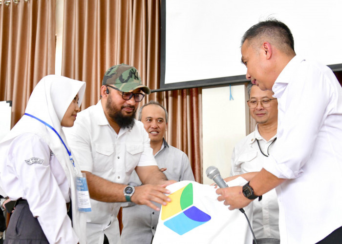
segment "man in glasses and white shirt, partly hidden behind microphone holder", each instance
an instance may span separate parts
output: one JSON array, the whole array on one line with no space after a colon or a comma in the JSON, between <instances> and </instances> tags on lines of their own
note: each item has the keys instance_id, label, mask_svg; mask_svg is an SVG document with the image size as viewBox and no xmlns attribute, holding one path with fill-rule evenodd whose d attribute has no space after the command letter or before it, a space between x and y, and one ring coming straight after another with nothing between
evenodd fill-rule
<instances>
[{"instance_id":1,"label":"man in glasses and white shirt, partly hidden behind microphone holder","mask_svg":"<svg viewBox=\"0 0 342 244\"><path fill-rule=\"evenodd\" d=\"M256 120L254 132L237 142L232 155L231 177L251 180L262 169L262 162L272 154L277 141L278 102L273 92L252 83L247 85L250 114ZM243 174L243 175L241 175ZM265 193L262 201L253 202L253 231L258 243L279 243L279 207L275 189Z\"/></svg>"}]
</instances>

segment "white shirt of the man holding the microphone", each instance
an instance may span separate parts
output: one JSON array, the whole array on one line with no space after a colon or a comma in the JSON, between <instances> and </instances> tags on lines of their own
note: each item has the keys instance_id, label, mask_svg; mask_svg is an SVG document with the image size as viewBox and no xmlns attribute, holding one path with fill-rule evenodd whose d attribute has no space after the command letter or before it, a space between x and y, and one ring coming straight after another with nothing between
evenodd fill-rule
<instances>
[{"instance_id":1,"label":"white shirt of the man holding the microphone","mask_svg":"<svg viewBox=\"0 0 342 244\"><path fill-rule=\"evenodd\" d=\"M342 87L325 65L295 56L272 88L277 144L263 167L276 187L282 244L312 244L342 226Z\"/></svg>"}]
</instances>

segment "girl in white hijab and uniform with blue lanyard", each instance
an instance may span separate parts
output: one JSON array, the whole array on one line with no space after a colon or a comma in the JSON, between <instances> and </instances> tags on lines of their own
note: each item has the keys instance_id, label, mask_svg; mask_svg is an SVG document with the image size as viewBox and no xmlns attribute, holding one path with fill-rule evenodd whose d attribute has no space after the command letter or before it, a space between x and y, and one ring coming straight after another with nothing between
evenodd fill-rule
<instances>
[{"instance_id":1,"label":"girl in white hijab and uniform with blue lanyard","mask_svg":"<svg viewBox=\"0 0 342 244\"><path fill-rule=\"evenodd\" d=\"M0 181L17 200L5 243L85 244L85 213L77 207L75 179L62 126L80 111L85 82L49 75L34 88L25 115L0 142ZM67 204L72 202L72 222Z\"/></svg>"}]
</instances>

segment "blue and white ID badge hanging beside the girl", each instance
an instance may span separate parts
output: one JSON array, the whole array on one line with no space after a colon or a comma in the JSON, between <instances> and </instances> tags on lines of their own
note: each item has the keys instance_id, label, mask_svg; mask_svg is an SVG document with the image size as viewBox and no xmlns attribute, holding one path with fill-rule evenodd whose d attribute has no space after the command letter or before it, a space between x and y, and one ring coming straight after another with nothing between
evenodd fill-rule
<instances>
[{"instance_id":1,"label":"blue and white ID badge hanging beside the girl","mask_svg":"<svg viewBox=\"0 0 342 244\"><path fill-rule=\"evenodd\" d=\"M82 177L76 177L76 189L77 189L77 203L78 210L80 212L90 212L90 197L88 191L88 185L86 183L85 173L82 173Z\"/></svg>"}]
</instances>

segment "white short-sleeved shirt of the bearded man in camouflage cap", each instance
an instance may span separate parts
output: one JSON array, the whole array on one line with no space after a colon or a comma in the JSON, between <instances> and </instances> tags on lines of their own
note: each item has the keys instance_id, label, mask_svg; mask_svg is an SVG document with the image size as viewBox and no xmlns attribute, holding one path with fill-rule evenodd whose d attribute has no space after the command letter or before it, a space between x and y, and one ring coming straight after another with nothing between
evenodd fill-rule
<instances>
[{"instance_id":1,"label":"white short-sleeved shirt of the bearded man in camouflage cap","mask_svg":"<svg viewBox=\"0 0 342 244\"><path fill-rule=\"evenodd\" d=\"M108 181L128 184L136 166L157 165L143 123L135 120L132 129L121 128L117 134L107 121L101 101L81 111L74 126L64 128L64 132L81 170ZM116 216L121 203L90 201L88 243L102 244L104 234L110 244L120 243Z\"/></svg>"}]
</instances>

